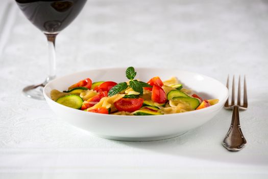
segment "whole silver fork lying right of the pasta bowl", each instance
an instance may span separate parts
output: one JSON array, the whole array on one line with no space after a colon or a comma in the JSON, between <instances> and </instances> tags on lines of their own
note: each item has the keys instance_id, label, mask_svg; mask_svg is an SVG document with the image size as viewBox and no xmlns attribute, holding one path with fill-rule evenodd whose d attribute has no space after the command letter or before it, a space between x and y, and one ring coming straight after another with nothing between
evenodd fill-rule
<instances>
[{"instance_id":1,"label":"whole silver fork lying right of the pasta bowl","mask_svg":"<svg viewBox=\"0 0 268 179\"><path fill-rule=\"evenodd\" d=\"M246 110L248 108L248 97L247 97L247 86L246 86L246 77L244 77L244 94L243 94L243 105L240 102L240 76L238 80L238 92L237 92L237 105L235 105L235 87L234 87L234 76L233 76L233 85L232 85L232 101L231 105L229 105L229 99L227 99L224 107L226 109L232 109L232 122L230 125L230 129L226 134L222 144L225 148L230 151L239 151L247 144L246 139L243 136L242 130L240 128L239 122L239 109ZM227 78L227 88L229 89L229 76Z\"/></svg>"}]
</instances>

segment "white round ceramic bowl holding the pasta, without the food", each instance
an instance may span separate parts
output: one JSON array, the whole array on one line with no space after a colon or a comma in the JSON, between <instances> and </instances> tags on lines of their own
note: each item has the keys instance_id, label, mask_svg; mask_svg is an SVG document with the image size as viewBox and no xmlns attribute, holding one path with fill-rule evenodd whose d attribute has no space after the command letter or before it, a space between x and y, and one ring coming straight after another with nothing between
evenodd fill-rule
<instances>
[{"instance_id":1,"label":"white round ceramic bowl holding the pasta, without the food","mask_svg":"<svg viewBox=\"0 0 268 179\"><path fill-rule=\"evenodd\" d=\"M197 73L171 69L136 68L137 77L147 82L154 76L162 80L178 77L183 86L205 99L219 99L210 107L180 114L159 116L116 116L89 113L61 105L50 97L52 89L66 90L81 79L92 81L126 81L126 68L98 69L59 77L44 87L44 97L52 110L62 119L92 135L122 141L152 141L172 138L201 126L221 110L228 98L228 89L221 82Z\"/></svg>"}]
</instances>

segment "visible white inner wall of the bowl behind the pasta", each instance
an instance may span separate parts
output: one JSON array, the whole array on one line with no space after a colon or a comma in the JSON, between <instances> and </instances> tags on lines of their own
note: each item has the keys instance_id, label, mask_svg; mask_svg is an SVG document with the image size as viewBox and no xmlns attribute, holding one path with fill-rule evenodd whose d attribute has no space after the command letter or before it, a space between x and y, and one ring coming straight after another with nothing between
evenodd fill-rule
<instances>
[{"instance_id":1,"label":"visible white inner wall of the bowl behind the pasta","mask_svg":"<svg viewBox=\"0 0 268 179\"><path fill-rule=\"evenodd\" d=\"M154 76L159 76L163 81L175 76L183 84L184 88L191 89L203 99L217 98L222 101L226 100L228 96L228 89L225 85L213 78L201 74L170 69L136 68L135 70L137 71L136 78L144 82L149 81ZM44 88L44 94L50 98L52 89L63 91L71 84L85 78L90 78L93 82L127 81L128 79L126 78L125 71L126 68L98 69L66 75L48 83Z\"/></svg>"}]
</instances>

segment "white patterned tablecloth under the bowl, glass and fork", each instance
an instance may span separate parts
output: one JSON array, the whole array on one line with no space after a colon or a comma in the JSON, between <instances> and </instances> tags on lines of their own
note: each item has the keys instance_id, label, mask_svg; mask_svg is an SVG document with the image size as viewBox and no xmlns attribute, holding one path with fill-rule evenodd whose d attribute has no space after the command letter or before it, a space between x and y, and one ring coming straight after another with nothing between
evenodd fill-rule
<instances>
[{"instance_id":1,"label":"white patterned tablecloth under the bowl, glass and fork","mask_svg":"<svg viewBox=\"0 0 268 179\"><path fill-rule=\"evenodd\" d=\"M45 101L22 95L46 76L46 39L13 1L8 14L0 28L0 178L268 177L267 1L91 0L56 42L58 76L144 65L223 83L245 74L249 108L240 123L248 145L239 152L221 145L232 114L225 109L154 142L100 139L69 125Z\"/></svg>"}]
</instances>

